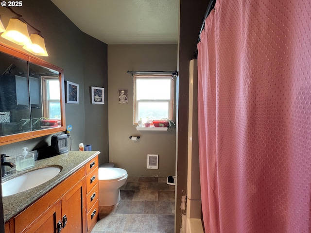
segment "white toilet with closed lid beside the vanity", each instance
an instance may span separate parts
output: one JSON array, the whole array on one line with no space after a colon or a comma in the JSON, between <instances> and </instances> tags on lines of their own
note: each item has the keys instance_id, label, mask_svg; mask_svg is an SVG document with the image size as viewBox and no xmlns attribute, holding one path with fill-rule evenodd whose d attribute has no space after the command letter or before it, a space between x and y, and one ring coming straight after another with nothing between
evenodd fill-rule
<instances>
[{"instance_id":1,"label":"white toilet with closed lid beside the vanity","mask_svg":"<svg viewBox=\"0 0 311 233\"><path fill-rule=\"evenodd\" d=\"M127 172L117 167L98 168L99 205L111 206L120 199L120 188L127 180Z\"/></svg>"}]
</instances>

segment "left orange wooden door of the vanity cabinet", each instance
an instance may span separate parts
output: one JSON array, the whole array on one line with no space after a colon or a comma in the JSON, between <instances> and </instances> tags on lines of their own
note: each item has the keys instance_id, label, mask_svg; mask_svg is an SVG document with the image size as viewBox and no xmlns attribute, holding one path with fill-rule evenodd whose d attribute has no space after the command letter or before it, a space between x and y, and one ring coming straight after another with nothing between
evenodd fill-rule
<instances>
[{"instance_id":1,"label":"left orange wooden door of the vanity cabinet","mask_svg":"<svg viewBox=\"0 0 311 233\"><path fill-rule=\"evenodd\" d=\"M60 222L59 222L60 221ZM38 221L30 225L23 233L59 233L61 224L61 202L57 202L49 208Z\"/></svg>"}]
</instances>

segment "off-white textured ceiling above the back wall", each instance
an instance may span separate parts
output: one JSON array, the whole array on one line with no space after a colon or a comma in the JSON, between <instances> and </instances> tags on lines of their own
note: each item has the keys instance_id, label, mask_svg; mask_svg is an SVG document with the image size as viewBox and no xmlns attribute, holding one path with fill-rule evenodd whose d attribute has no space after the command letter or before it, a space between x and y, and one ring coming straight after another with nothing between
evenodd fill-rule
<instances>
[{"instance_id":1,"label":"off-white textured ceiling above the back wall","mask_svg":"<svg viewBox=\"0 0 311 233\"><path fill-rule=\"evenodd\" d=\"M179 0L52 0L84 33L108 45L177 44Z\"/></svg>"}]
</instances>

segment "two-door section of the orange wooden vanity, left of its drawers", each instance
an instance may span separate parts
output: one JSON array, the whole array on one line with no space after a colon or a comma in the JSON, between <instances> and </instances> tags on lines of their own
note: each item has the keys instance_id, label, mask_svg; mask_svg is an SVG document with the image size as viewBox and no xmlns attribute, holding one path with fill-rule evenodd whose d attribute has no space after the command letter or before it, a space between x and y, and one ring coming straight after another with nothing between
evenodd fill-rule
<instances>
[{"instance_id":1,"label":"two-door section of the orange wooden vanity, left of its drawers","mask_svg":"<svg viewBox=\"0 0 311 233\"><path fill-rule=\"evenodd\" d=\"M15 232L84 232L84 192L85 170L81 168L14 217Z\"/></svg>"}]
</instances>

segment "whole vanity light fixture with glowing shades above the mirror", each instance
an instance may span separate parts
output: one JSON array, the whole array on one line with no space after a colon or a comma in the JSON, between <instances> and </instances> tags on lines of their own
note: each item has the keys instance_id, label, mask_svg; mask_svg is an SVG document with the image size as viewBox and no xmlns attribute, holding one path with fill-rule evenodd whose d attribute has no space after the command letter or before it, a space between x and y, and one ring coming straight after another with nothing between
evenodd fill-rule
<instances>
[{"instance_id":1,"label":"whole vanity light fixture with glowing shades above the mirror","mask_svg":"<svg viewBox=\"0 0 311 233\"><path fill-rule=\"evenodd\" d=\"M25 19L23 19L21 15L13 11L11 7L5 7L17 15L17 17L10 19L7 28L3 30L4 33L2 33L1 36L9 41L16 43L17 45L23 46L23 49L35 55L48 56L48 52L45 48L44 38L40 34L41 32L29 24ZM1 25L2 23L0 21L0 33ZM36 31L36 33L31 34L30 37L27 25Z\"/></svg>"}]
</instances>

